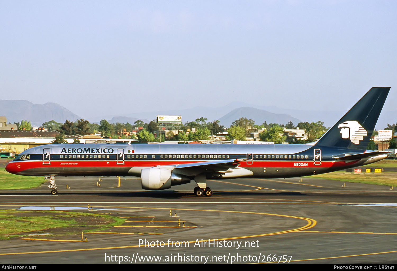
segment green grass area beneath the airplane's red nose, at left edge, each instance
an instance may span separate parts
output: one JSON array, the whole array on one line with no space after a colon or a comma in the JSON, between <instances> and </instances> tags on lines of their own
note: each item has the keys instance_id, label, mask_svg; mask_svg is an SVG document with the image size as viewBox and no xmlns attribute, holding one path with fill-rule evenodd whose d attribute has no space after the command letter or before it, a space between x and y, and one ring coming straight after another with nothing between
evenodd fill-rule
<instances>
[{"instance_id":1,"label":"green grass area beneath the airplane's red nose, at left edge","mask_svg":"<svg viewBox=\"0 0 397 271\"><path fill-rule=\"evenodd\" d=\"M0 168L0 189L29 189L39 187L45 181L44 177L15 175Z\"/></svg>"}]
</instances>

